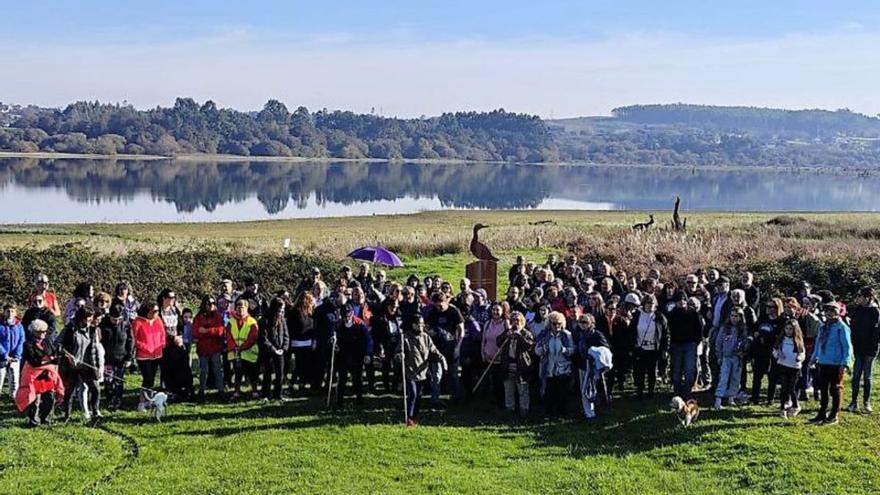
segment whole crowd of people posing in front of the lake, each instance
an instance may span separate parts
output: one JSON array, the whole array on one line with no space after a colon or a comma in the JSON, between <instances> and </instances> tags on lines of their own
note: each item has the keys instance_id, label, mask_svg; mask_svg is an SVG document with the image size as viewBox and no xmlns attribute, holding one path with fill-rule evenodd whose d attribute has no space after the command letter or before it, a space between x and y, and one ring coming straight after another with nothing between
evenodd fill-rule
<instances>
[{"instance_id":1,"label":"whole crowd of people posing in front of the lake","mask_svg":"<svg viewBox=\"0 0 880 495\"><path fill-rule=\"evenodd\" d=\"M685 400L705 392L715 409L766 404L785 418L818 400L810 421L834 424L851 369L846 410L872 411L880 309L868 287L849 305L807 281L766 297L750 273L676 280L568 254L518 258L493 301L468 279L454 290L438 276L398 283L371 268L313 269L272 295L252 278L240 290L222 280L194 311L172 289L139 300L126 282L112 294L83 282L62 302L39 274L21 317L4 308L0 389L9 384L32 426L50 424L56 404L65 421L76 402L90 421L102 404L122 408L133 371L141 410L158 390L197 402L321 395L335 407L403 393L408 425L423 394L434 409L446 397L486 398L512 416L568 414L573 400L591 419L615 397L647 400L668 384Z\"/></svg>"}]
</instances>

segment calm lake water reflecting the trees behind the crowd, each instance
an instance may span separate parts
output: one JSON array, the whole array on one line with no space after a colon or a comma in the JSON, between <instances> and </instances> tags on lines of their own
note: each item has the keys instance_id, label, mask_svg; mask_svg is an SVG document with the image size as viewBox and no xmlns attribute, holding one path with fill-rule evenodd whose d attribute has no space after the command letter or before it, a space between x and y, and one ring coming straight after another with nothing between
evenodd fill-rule
<instances>
[{"instance_id":1,"label":"calm lake water reflecting the trees behind the crowd","mask_svg":"<svg viewBox=\"0 0 880 495\"><path fill-rule=\"evenodd\" d=\"M179 222L445 208L876 211L880 178L781 170L0 158L0 223Z\"/></svg>"}]
</instances>

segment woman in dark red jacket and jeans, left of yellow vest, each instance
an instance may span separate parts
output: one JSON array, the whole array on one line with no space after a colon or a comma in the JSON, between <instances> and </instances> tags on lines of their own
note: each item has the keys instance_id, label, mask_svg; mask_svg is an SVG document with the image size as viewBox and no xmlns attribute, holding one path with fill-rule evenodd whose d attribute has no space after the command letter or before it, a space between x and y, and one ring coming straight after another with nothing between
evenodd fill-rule
<instances>
[{"instance_id":1,"label":"woman in dark red jacket and jeans, left of yellow vest","mask_svg":"<svg viewBox=\"0 0 880 495\"><path fill-rule=\"evenodd\" d=\"M205 296L193 320L193 338L199 356L199 401L205 400L208 377L214 378L214 388L223 394L223 349L226 347L226 327L223 313L217 308L217 299Z\"/></svg>"}]
</instances>

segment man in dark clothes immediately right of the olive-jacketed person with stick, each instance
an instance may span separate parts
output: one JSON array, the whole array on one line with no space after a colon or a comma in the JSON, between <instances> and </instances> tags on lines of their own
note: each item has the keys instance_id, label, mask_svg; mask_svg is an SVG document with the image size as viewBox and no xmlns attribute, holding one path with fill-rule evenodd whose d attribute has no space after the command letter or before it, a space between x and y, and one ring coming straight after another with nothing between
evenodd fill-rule
<instances>
[{"instance_id":1,"label":"man in dark clothes immediately right of the olive-jacketed person with stick","mask_svg":"<svg viewBox=\"0 0 880 495\"><path fill-rule=\"evenodd\" d=\"M458 390L458 358L461 353L461 343L464 340L464 317L455 306L449 304L449 297L443 293L435 293L431 296L432 307L428 311L425 322L428 325L428 333L434 340L434 345L443 354L448 365L447 384L453 400L460 398ZM431 373L431 403L443 408L440 402L440 386L442 372L439 366L432 368Z\"/></svg>"}]
</instances>

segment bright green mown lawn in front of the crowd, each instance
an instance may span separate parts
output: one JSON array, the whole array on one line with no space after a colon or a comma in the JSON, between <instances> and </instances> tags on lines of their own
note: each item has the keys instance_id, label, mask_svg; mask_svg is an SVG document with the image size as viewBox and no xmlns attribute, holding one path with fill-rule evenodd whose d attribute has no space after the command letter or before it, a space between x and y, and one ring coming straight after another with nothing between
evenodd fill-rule
<instances>
[{"instance_id":1,"label":"bright green mown lawn in front of the crowd","mask_svg":"<svg viewBox=\"0 0 880 495\"><path fill-rule=\"evenodd\" d=\"M131 382L130 382L131 383ZM133 397L131 398L132 400ZM596 423L512 421L483 403L426 412L400 400L331 414L283 405L174 405L26 430L0 412L0 493L876 493L880 419L786 422L775 410L704 410L691 428L667 398L625 398ZM573 406L573 404L570 404ZM571 407L570 409L574 409Z\"/></svg>"}]
</instances>

